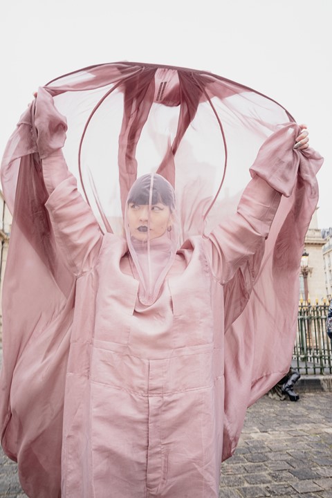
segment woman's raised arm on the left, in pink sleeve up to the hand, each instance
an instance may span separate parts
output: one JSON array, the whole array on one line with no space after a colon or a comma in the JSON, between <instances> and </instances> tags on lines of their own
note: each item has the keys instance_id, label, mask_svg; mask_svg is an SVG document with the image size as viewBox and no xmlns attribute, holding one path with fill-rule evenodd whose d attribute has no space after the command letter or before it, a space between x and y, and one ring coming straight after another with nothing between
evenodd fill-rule
<instances>
[{"instance_id":1,"label":"woman's raised arm on the left, in pink sleeve up to the hand","mask_svg":"<svg viewBox=\"0 0 332 498\"><path fill-rule=\"evenodd\" d=\"M98 257L102 232L89 205L77 190L62 154L66 120L53 104L53 98L39 89L35 127L42 159L44 183L49 194L46 208L53 225L57 246L75 275L89 271Z\"/></svg>"}]
</instances>

